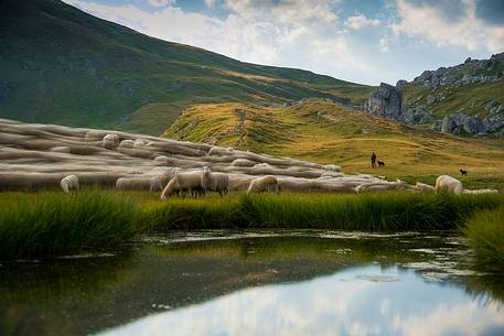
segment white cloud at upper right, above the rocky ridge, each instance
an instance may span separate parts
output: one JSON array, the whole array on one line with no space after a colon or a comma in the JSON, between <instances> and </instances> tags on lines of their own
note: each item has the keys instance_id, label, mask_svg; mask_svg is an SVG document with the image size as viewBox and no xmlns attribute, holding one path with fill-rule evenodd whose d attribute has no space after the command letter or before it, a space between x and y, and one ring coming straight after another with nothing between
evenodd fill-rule
<instances>
[{"instance_id":1,"label":"white cloud at upper right, above the rocky ridge","mask_svg":"<svg viewBox=\"0 0 504 336\"><path fill-rule=\"evenodd\" d=\"M484 47L490 52L504 48L504 26L490 25L476 17L476 1L462 2L463 15L454 20L443 17L436 6L418 6L407 0L397 0L399 22L390 24L396 35L421 36L438 46L455 45L475 51Z\"/></svg>"}]
</instances>

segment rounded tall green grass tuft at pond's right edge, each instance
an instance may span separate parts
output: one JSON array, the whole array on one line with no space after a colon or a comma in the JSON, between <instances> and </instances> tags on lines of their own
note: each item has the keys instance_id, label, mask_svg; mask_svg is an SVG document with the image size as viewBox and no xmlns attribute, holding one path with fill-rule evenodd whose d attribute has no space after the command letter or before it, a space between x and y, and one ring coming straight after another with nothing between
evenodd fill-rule
<instances>
[{"instance_id":1,"label":"rounded tall green grass tuft at pond's right edge","mask_svg":"<svg viewBox=\"0 0 504 336\"><path fill-rule=\"evenodd\" d=\"M462 231L480 261L504 265L504 206L475 214Z\"/></svg>"}]
</instances>

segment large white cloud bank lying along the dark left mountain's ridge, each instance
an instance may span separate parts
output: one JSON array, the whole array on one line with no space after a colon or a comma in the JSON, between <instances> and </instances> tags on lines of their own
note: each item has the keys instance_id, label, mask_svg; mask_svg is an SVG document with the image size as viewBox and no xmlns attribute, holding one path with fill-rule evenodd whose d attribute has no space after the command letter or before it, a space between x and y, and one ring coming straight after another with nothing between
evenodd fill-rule
<instances>
[{"instance_id":1,"label":"large white cloud bank lying along the dark left mountain's ridge","mask_svg":"<svg viewBox=\"0 0 504 336\"><path fill-rule=\"evenodd\" d=\"M348 45L334 0L226 0L230 13L224 19L184 12L174 3L147 12L133 4L66 2L144 34L245 62L299 67L339 78L368 71Z\"/></svg>"}]
</instances>

